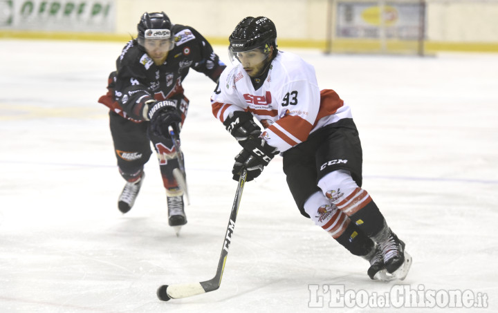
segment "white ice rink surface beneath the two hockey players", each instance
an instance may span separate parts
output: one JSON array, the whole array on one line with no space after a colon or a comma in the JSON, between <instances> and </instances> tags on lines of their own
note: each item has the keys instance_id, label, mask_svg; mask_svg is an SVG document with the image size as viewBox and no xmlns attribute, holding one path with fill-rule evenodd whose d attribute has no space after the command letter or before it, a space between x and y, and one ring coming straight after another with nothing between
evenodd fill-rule
<instances>
[{"instance_id":1,"label":"white ice rink surface beneath the two hockey players","mask_svg":"<svg viewBox=\"0 0 498 313\"><path fill-rule=\"evenodd\" d=\"M167 225L154 157L135 206L120 214L124 181L97 99L122 46L0 41L0 312L395 310L327 307L328 285L370 295L396 283L370 281L365 260L299 215L279 157L246 184L220 289L159 301L160 285L214 276L240 148L212 116L214 84L192 71L181 133L188 224L179 238ZM352 106L363 187L414 259L403 284L470 290L488 297L478 312L498 312L498 55L294 51L315 66L320 88ZM228 60L225 47L216 52ZM324 308L309 307L316 285Z\"/></svg>"}]
</instances>

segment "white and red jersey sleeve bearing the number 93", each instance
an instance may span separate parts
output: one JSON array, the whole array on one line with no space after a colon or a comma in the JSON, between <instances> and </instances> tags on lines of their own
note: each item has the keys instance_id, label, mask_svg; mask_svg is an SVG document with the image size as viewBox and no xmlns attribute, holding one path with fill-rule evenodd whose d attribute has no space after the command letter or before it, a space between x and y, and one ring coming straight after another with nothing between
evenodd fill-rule
<instances>
[{"instance_id":1,"label":"white and red jersey sleeve bearing the number 93","mask_svg":"<svg viewBox=\"0 0 498 313\"><path fill-rule=\"evenodd\" d=\"M278 94L279 118L263 136L270 146L284 152L308 139L320 110L320 89L313 79L297 79L284 84Z\"/></svg>"}]
</instances>

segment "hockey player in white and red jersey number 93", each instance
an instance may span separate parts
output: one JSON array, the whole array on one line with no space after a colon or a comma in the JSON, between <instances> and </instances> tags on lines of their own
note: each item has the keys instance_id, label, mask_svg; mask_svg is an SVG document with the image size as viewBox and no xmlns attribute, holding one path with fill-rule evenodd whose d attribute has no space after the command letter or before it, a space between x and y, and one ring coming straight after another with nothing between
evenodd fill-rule
<instances>
[{"instance_id":1,"label":"hockey player in white and red jersey number 93","mask_svg":"<svg viewBox=\"0 0 498 313\"><path fill-rule=\"evenodd\" d=\"M349 106L335 91L320 91L313 66L277 50L270 19L246 17L229 40L232 66L223 70L211 102L243 147L234 180L243 168L247 181L257 178L280 153L301 214L367 259L371 279L403 280L412 258L361 188L362 148Z\"/></svg>"}]
</instances>

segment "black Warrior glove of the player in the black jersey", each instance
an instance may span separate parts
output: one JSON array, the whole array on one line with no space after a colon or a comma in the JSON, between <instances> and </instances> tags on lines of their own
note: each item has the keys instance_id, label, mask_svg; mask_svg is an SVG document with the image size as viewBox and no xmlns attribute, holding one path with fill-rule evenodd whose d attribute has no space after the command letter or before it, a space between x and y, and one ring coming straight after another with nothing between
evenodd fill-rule
<instances>
[{"instance_id":1,"label":"black Warrior glove of the player in the black jersey","mask_svg":"<svg viewBox=\"0 0 498 313\"><path fill-rule=\"evenodd\" d=\"M180 133L181 116L176 111L176 102L164 100L149 104L147 117L150 120L150 131L156 136L169 138L169 126L172 126L176 136Z\"/></svg>"}]
</instances>

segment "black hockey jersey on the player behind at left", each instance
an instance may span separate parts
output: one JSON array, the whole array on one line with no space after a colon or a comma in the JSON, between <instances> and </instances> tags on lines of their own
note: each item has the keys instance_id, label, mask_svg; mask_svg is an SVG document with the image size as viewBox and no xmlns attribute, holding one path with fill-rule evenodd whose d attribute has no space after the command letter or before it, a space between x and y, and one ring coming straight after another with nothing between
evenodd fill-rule
<instances>
[{"instance_id":1,"label":"black hockey jersey on the player behind at left","mask_svg":"<svg viewBox=\"0 0 498 313\"><path fill-rule=\"evenodd\" d=\"M107 99L104 96L99 102L131 120L144 120L142 111L148 100L183 98L182 82L190 68L217 82L225 64L209 42L189 26L176 24L172 33L174 48L160 66L136 39L129 41L116 60L117 70L109 77Z\"/></svg>"}]
</instances>

